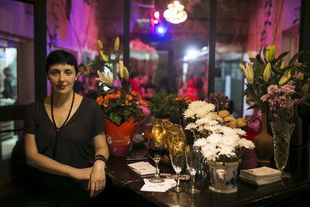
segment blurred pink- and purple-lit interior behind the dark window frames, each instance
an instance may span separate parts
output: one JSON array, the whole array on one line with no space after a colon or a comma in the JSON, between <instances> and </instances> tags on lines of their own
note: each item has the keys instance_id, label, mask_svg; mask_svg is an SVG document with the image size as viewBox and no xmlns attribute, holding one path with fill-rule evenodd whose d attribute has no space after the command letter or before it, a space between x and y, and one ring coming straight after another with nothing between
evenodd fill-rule
<instances>
[{"instance_id":1,"label":"blurred pink- and purple-lit interior behind the dark window frames","mask_svg":"<svg viewBox=\"0 0 310 207\"><path fill-rule=\"evenodd\" d=\"M208 92L220 92L233 101L236 117L251 119L254 111L246 110L251 103L242 97L245 79L238 67L248 61L247 51L256 54L262 46L276 44L277 54L298 52L300 0L218 0L216 11L210 10L210 0L183 0L180 3L185 6L187 19L177 24L163 17L170 0L124 2L47 0L47 54L54 49L68 50L79 64L86 65L98 58L97 39L109 51L114 39L120 37L124 51L128 48L123 47L123 41L130 41L132 77L146 99L162 88L198 99L205 99ZM130 6L129 35L124 33L125 6ZM154 23L156 11L158 24ZM34 17L33 3L0 0L0 94L6 79L4 68L11 70L15 93L14 98L0 95L0 108L37 99ZM210 36L214 23L215 36ZM215 55L214 71L209 70L209 55ZM95 77L95 70L85 70L79 77L81 94L96 88ZM45 94L49 94L46 88ZM0 160L10 158L15 142L22 137L22 128L22 121L1 121Z\"/></svg>"}]
</instances>

